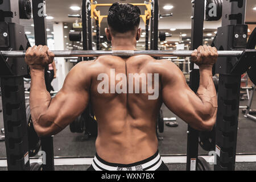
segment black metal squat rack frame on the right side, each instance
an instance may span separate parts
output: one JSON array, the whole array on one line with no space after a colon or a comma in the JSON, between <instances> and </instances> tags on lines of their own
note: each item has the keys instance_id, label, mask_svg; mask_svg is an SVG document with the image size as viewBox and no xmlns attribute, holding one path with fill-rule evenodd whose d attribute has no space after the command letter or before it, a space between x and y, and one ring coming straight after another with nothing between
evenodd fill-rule
<instances>
[{"instance_id":1,"label":"black metal squat rack frame on the right side","mask_svg":"<svg viewBox=\"0 0 256 182\"><path fill-rule=\"evenodd\" d=\"M209 2L213 2L213 0L209 0ZM218 3L217 7L222 9L219 2L216 2ZM192 48L196 48L202 44L204 22L201 17L204 17L204 0L192 1L192 7ZM247 42L247 25L244 24L245 7L245 0L223 2L223 9L218 10L218 12L223 11L222 27L218 28L214 41L218 50L255 49L255 35L252 34ZM198 42L195 43L195 41ZM216 127L210 133L200 133L202 138L208 137L212 140L212 143L208 144L210 144L209 150L214 146L213 149L216 153L217 163L214 165L214 170L235 169L241 75L247 71L251 81L255 84L255 67L255 52L246 53L244 51L240 57L218 57L216 73L219 73L220 78ZM199 84L199 70L193 64L191 68L193 68L191 88L196 92ZM198 158L196 144L198 137L199 132L188 127L187 170L195 171L203 162L201 158ZM204 147L208 148L206 145ZM207 166L204 170L207 170L209 167Z\"/></svg>"}]
</instances>

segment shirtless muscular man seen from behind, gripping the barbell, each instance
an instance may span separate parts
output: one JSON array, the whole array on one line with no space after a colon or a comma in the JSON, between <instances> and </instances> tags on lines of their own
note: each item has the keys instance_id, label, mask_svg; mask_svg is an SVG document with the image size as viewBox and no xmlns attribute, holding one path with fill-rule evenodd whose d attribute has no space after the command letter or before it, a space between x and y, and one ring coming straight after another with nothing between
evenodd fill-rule
<instances>
[{"instance_id":1,"label":"shirtless muscular man seen from behind, gripping the barbell","mask_svg":"<svg viewBox=\"0 0 256 182\"><path fill-rule=\"evenodd\" d=\"M136 49L141 36L140 14L138 7L129 4L110 7L105 32L113 50ZM164 103L194 129L212 130L217 113L212 65L217 56L216 48L210 46L193 52L192 60L200 67L197 94L171 61L147 55L100 56L77 64L52 99L44 84L44 67L52 63L54 55L46 46L28 48L30 107L36 133L39 137L59 133L90 102L98 137L97 154L89 170L168 170L160 158L155 133L160 107Z\"/></svg>"}]
</instances>

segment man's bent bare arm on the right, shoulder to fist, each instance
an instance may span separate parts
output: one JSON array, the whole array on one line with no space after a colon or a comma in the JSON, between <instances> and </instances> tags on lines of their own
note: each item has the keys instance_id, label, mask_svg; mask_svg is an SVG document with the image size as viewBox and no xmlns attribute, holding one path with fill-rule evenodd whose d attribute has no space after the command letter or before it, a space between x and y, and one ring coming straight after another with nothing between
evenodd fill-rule
<instances>
[{"instance_id":1,"label":"man's bent bare arm on the right, shoulder to fist","mask_svg":"<svg viewBox=\"0 0 256 182\"><path fill-rule=\"evenodd\" d=\"M168 109L197 130L212 130L216 122L217 94L212 80L212 65L217 60L217 50L200 47L192 60L200 67L200 85L195 94L187 85L179 68L164 61L162 72L162 97ZM206 51L205 51L206 49Z\"/></svg>"}]
</instances>

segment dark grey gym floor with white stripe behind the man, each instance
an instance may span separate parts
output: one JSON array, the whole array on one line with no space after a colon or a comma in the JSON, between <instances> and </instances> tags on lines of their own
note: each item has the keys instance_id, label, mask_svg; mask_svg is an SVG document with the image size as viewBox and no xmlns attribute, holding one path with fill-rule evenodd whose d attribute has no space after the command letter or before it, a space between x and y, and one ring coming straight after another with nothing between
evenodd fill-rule
<instances>
[{"instance_id":1,"label":"dark grey gym floor with white stripe behind the man","mask_svg":"<svg viewBox=\"0 0 256 182\"><path fill-rule=\"evenodd\" d=\"M2 100L0 98L0 109L2 109ZM241 101L240 105L246 105L247 101ZM256 108L256 98L254 97L252 108ZM171 113L166 106L163 105L164 117L176 117L175 114ZM180 118L177 118L178 127L164 127L164 133L160 134L164 139L159 141L159 151L167 162L172 159L177 160L179 158L182 162L170 162L167 163L168 168L171 171L185 170L185 154L187 153L187 124ZM3 117L0 113L0 128L3 128ZM240 110L239 123L238 123L238 137L237 137L237 154L238 156L253 156L256 154L256 122L243 117L242 110ZM74 134L69 131L69 127L63 130L61 133L55 135L54 141L54 154L56 159L63 158L72 159L81 158L91 159L95 155L95 138L84 139L83 134ZM208 152L204 151L199 147L199 155L207 156ZM167 156L172 156L169 159ZM0 142L0 170L6 170L6 150L5 142ZM168 158L168 159L167 159ZM237 157L238 158L238 157ZM249 157L250 158L250 157ZM164 160L164 159L163 159ZM164 160L165 161L165 160ZM256 161L256 160L253 160ZM89 163L69 163L63 166L63 163L56 163L56 170L85 170L89 167ZM212 166L213 167L213 166ZM256 162L250 162L240 160L236 163L236 170L256 170Z\"/></svg>"}]
</instances>

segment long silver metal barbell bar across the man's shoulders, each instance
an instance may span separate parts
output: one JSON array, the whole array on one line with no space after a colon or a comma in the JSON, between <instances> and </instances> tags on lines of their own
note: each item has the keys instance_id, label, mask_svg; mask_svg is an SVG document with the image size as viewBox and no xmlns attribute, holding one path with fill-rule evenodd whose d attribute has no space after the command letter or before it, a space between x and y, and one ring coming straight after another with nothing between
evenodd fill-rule
<instances>
[{"instance_id":1,"label":"long silver metal barbell bar across the man's shoulders","mask_svg":"<svg viewBox=\"0 0 256 182\"><path fill-rule=\"evenodd\" d=\"M255 49L249 49L249 51ZM26 51L0 51L3 57L25 57ZM191 57L193 51L52 51L55 57L98 57L104 55L130 57L149 55L154 57ZM239 57L243 51L218 51L218 57Z\"/></svg>"}]
</instances>

